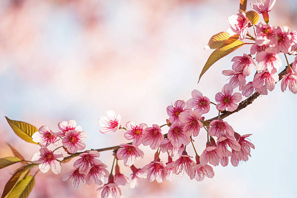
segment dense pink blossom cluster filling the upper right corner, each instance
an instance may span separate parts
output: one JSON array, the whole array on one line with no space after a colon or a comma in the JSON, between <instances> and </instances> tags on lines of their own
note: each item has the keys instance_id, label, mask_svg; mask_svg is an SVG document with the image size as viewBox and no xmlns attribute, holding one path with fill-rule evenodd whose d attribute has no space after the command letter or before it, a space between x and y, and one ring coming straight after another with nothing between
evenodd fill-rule
<instances>
[{"instance_id":1,"label":"dense pink blossom cluster filling the upper right corner","mask_svg":"<svg viewBox=\"0 0 297 198\"><path fill-rule=\"evenodd\" d=\"M248 33L248 28L254 28L246 16L246 12L228 17L231 34L239 34L241 40L247 38L255 43L250 48L250 54L235 56L232 59L232 70L224 70L222 73L231 76L229 84L233 88L239 87L242 95L249 97L254 91L261 95L267 95L268 90L272 91L275 83L279 81L279 69L282 66L280 53L284 55L297 55L297 31L290 31L287 26L270 26L268 24L269 15L275 0L254 0L250 6L258 13L261 13L266 23L260 22L256 25L255 37ZM255 55L252 58L252 55ZM255 60L254 60L255 59ZM287 57L286 57L287 59ZM252 67L256 73L251 82L246 78L252 72ZM293 66L287 68L287 74L283 76L281 90L284 92L288 86L294 94L297 93L297 68L296 58Z\"/></svg>"}]
</instances>

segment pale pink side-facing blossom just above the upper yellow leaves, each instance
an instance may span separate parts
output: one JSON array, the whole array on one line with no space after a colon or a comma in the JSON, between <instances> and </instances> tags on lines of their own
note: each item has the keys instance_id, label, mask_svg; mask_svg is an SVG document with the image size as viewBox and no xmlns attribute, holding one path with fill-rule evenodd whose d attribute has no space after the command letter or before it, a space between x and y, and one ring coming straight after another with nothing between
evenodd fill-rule
<instances>
[{"instance_id":1,"label":"pale pink side-facing blossom just above the upper yellow leaves","mask_svg":"<svg viewBox=\"0 0 297 198\"><path fill-rule=\"evenodd\" d=\"M229 16L228 23L231 30L234 33L239 34L239 38L241 40L246 38L249 21L247 20L245 13L238 13L237 15Z\"/></svg>"}]
</instances>

